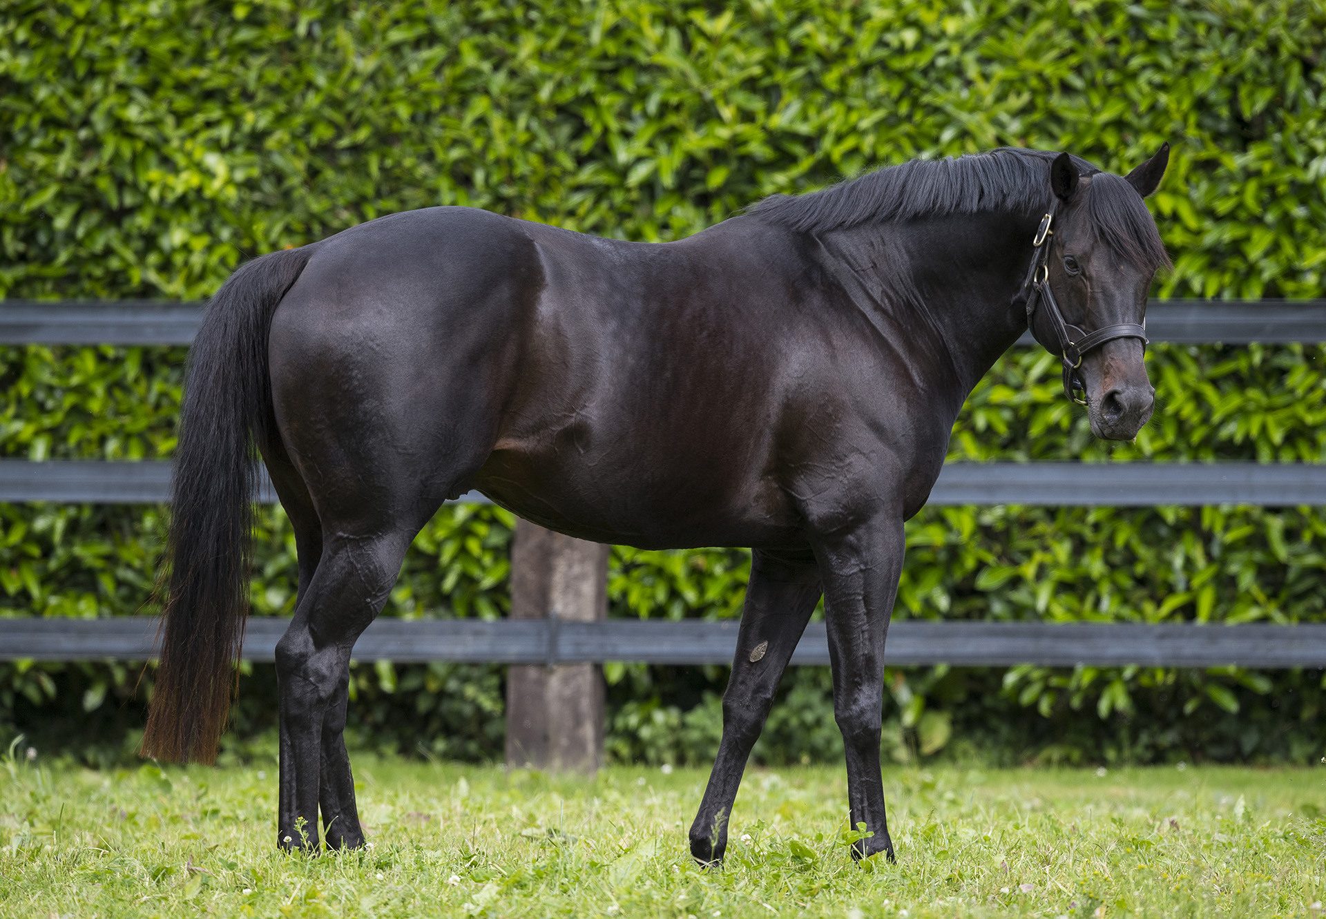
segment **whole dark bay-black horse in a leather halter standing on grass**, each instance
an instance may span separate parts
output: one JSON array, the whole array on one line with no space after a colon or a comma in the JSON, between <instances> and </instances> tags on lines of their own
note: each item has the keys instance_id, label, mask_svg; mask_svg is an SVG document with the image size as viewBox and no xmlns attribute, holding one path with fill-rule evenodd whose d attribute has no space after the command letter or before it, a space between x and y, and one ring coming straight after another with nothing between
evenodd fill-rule
<instances>
[{"instance_id":1,"label":"whole dark bay-black horse in a leather halter standing on grass","mask_svg":"<svg viewBox=\"0 0 1326 919\"><path fill-rule=\"evenodd\" d=\"M727 817L821 594L855 854L892 857L882 672L903 521L959 408L1030 326L1097 435L1151 414L1143 313L1168 264L1127 178L1067 154L914 160L676 243L484 211L395 214L256 259L190 355L160 668L143 752L211 761L244 629L253 446L294 526L276 648L286 847L361 846L342 729L355 638L411 540L477 489L572 536L751 546L723 740L691 829ZM766 644L766 652L752 654Z\"/></svg>"}]
</instances>

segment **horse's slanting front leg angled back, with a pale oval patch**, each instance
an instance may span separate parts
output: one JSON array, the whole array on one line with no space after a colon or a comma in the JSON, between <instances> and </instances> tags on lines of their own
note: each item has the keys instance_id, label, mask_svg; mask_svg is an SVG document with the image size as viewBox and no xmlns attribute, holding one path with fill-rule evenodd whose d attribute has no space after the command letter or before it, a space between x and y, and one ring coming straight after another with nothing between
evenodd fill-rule
<instances>
[{"instance_id":1,"label":"horse's slanting front leg angled back, with a pale oval patch","mask_svg":"<svg viewBox=\"0 0 1326 919\"><path fill-rule=\"evenodd\" d=\"M813 558L753 554L737 652L723 694L723 740L700 812L691 825L691 854L701 865L723 861L728 817L747 759L817 602L819 572Z\"/></svg>"}]
</instances>

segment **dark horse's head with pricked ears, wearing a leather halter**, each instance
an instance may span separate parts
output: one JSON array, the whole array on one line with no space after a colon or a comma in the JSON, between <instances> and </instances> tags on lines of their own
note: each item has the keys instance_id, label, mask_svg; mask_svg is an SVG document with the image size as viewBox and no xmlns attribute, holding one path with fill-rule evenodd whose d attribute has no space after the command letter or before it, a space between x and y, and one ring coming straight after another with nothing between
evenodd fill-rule
<instances>
[{"instance_id":1,"label":"dark horse's head with pricked ears, wearing a leather halter","mask_svg":"<svg viewBox=\"0 0 1326 919\"><path fill-rule=\"evenodd\" d=\"M1086 402L1091 431L1130 440L1151 418L1143 362L1147 292L1170 264L1143 198L1160 184L1170 146L1127 176L1079 174L1067 154L1050 164L1054 203L1029 277L1030 326L1063 358L1063 385ZM1078 393L1082 395L1078 397Z\"/></svg>"}]
</instances>

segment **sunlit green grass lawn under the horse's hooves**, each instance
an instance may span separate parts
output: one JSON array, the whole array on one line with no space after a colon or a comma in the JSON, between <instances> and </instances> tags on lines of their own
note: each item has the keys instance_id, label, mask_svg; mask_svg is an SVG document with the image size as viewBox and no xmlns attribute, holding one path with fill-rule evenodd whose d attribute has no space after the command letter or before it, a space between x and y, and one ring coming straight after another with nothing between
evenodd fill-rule
<instances>
[{"instance_id":1,"label":"sunlit green grass lawn under the horse's hooves","mask_svg":"<svg viewBox=\"0 0 1326 919\"><path fill-rule=\"evenodd\" d=\"M898 863L851 862L838 769L752 770L727 866L700 770L358 761L371 847L274 847L272 768L0 768L0 915L1296 915L1326 899L1326 768L894 768Z\"/></svg>"}]
</instances>

